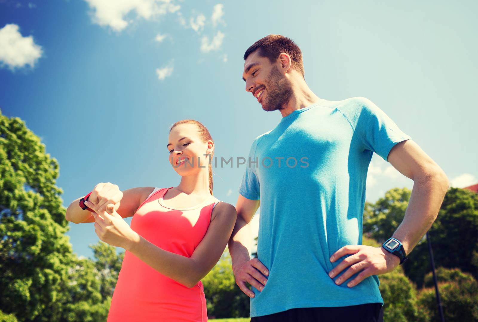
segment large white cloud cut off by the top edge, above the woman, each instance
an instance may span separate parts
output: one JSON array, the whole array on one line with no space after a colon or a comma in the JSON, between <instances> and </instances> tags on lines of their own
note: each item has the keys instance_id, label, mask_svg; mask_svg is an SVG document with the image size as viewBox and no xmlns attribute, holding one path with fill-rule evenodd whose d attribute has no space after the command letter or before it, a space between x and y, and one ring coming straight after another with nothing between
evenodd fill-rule
<instances>
[{"instance_id":1,"label":"large white cloud cut off by the top edge, above the woman","mask_svg":"<svg viewBox=\"0 0 478 322\"><path fill-rule=\"evenodd\" d=\"M170 0L85 0L91 11L92 20L100 26L109 26L112 30L120 32L130 22L125 18L135 11L137 17L146 20L154 16L162 16L168 12L174 13L180 9Z\"/></svg>"}]
</instances>

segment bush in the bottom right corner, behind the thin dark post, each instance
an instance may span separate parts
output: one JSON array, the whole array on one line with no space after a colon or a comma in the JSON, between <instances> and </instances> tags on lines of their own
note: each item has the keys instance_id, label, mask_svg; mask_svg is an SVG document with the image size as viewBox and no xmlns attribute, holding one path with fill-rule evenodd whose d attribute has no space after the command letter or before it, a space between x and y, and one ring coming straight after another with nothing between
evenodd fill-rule
<instances>
[{"instance_id":1,"label":"bush in the bottom right corner, behind the thin dark post","mask_svg":"<svg viewBox=\"0 0 478 322\"><path fill-rule=\"evenodd\" d=\"M436 270L438 289L445 321L478 321L478 283L471 274L459 269L440 267ZM438 306L432 273L424 278L425 288L418 296L418 303L430 317L439 321Z\"/></svg>"}]
</instances>

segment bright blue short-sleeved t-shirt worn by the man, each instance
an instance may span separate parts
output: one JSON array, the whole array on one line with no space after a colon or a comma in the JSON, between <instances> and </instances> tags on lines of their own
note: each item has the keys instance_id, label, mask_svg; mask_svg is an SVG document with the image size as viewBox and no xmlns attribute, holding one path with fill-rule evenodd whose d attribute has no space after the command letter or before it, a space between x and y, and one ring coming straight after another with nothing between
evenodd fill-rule
<instances>
[{"instance_id":1,"label":"bright blue short-sleeved t-shirt worn by the man","mask_svg":"<svg viewBox=\"0 0 478 322\"><path fill-rule=\"evenodd\" d=\"M345 245L362 244L373 152L387 160L391 148L407 139L371 101L352 98L321 99L254 140L239 193L261 200L257 255L270 274L262 291L252 287L251 317L383 304L377 276L349 288L356 274L336 285L337 277L327 274L345 257L329 258Z\"/></svg>"}]
</instances>

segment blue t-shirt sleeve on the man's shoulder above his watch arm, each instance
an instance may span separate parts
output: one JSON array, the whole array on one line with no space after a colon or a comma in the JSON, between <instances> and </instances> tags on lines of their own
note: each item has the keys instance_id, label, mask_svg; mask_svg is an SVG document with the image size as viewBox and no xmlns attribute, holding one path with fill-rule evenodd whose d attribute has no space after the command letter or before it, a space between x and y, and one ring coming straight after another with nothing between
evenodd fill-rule
<instances>
[{"instance_id":1,"label":"blue t-shirt sleeve on the man's shoulder above his watch arm","mask_svg":"<svg viewBox=\"0 0 478 322\"><path fill-rule=\"evenodd\" d=\"M355 99L349 122L354 128L356 141L364 150L370 150L388 161L391 148L411 137L403 133L384 111L366 98ZM346 115L347 116L347 115Z\"/></svg>"}]
</instances>

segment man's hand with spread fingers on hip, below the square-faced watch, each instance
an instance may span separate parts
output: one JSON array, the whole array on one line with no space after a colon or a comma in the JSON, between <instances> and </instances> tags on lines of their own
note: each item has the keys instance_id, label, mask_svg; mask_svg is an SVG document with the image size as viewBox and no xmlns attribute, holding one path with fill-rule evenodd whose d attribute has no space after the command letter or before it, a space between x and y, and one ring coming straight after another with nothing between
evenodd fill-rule
<instances>
[{"instance_id":1,"label":"man's hand with spread fingers on hip, below the square-faced watch","mask_svg":"<svg viewBox=\"0 0 478 322\"><path fill-rule=\"evenodd\" d=\"M330 278L334 278L350 266L348 270L335 281L337 285L340 285L352 275L360 272L356 278L348 282L347 286L349 288L356 286L369 276L391 272L400 264L400 258L387 252L383 247L366 245L344 246L330 257L330 261L333 263L344 255L350 256L332 269L329 272L329 276Z\"/></svg>"}]
</instances>

